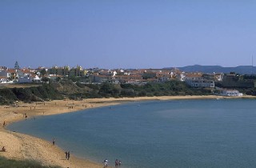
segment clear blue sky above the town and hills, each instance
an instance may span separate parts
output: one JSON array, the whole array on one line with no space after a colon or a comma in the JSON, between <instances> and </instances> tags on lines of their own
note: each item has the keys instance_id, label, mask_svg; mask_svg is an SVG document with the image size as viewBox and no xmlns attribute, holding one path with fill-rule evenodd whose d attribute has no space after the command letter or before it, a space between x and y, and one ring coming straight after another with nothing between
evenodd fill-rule
<instances>
[{"instance_id":1,"label":"clear blue sky above the town and hills","mask_svg":"<svg viewBox=\"0 0 256 168\"><path fill-rule=\"evenodd\" d=\"M250 66L252 0L1 0L0 66Z\"/></svg>"}]
</instances>

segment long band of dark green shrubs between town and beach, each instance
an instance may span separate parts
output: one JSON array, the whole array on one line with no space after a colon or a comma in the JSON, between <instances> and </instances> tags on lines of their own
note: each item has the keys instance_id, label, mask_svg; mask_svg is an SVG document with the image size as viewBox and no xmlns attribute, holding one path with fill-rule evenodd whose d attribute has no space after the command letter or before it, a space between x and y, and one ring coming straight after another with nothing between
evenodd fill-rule
<instances>
[{"instance_id":1,"label":"long band of dark green shrubs between town and beach","mask_svg":"<svg viewBox=\"0 0 256 168\"><path fill-rule=\"evenodd\" d=\"M23 84L24 85L24 84ZM233 88L241 93L256 95L254 88ZM210 95L214 90L206 88L193 88L185 82L172 80L168 82L148 82L144 85L112 84L83 84L72 79L60 82L47 82L38 86L0 89L0 105L12 104L15 101L42 102L56 99L70 98L123 98L123 97L152 97L175 95Z\"/></svg>"}]
</instances>

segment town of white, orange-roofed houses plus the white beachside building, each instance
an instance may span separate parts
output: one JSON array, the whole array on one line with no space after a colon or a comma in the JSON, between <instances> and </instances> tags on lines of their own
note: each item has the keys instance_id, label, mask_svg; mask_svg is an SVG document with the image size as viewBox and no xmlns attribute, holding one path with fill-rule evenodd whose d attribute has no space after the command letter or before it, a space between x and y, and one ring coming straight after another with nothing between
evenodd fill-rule
<instances>
[{"instance_id":1,"label":"town of white, orange-roofed houses plus the white beachside building","mask_svg":"<svg viewBox=\"0 0 256 168\"><path fill-rule=\"evenodd\" d=\"M82 66L53 66L51 68L38 67L10 69L0 66L0 83L29 83L42 82L42 78L52 81L66 77L82 77L85 83L111 82L145 84L147 82L166 82L173 79L186 82L187 85L197 88L214 88L215 82L222 82L226 74L203 74L200 72L182 72L178 69L130 69L104 70L99 68L83 69ZM237 90L222 90L222 95L240 96Z\"/></svg>"}]
</instances>

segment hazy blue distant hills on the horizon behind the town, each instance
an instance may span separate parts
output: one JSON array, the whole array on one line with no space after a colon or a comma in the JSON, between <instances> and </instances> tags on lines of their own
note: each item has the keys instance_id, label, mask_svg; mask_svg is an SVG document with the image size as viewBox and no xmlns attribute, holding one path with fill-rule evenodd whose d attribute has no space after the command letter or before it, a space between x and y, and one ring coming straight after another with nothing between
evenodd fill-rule
<instances>
[{"instance_id":1,"label":"hazy blue distant hills on the horizon behind the town","mask_svg":"<svg viewBox=\"0 0 256 168\"><path fill-rule=\"evenodd\" d=\"M184 66L176 67L185 72L203 72L203 73L225 73L235 72L236 74L256 74L256 66L237 66L237 67L222 67L222 66ZM170 69L170 68L165 68Z\"/></svg>"}]
</instances>

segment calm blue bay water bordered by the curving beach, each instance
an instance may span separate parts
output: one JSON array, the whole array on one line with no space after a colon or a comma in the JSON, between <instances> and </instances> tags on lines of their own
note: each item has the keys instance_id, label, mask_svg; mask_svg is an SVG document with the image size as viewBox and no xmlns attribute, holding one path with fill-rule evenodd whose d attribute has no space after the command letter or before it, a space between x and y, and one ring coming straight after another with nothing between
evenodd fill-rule
<instances>
[{"instance_id":1,"label":"calm blue bay water bordered by the curving beach","mask_svg":"<svg viewBox=\"0 0 256 168\"><path fill-rule=\"evenodd\" d=\"M256 100L134 102L17 122L9 130L122 167L256 167ZM64 156L63 156L64 157Z\"/></svg>"}]
</instances>

